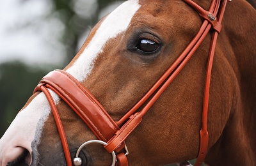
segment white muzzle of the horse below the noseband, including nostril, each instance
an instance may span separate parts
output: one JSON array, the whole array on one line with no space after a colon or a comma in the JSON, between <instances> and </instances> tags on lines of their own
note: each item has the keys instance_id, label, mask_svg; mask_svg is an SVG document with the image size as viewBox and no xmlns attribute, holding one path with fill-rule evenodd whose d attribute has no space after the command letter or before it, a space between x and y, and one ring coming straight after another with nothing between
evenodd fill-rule
<instances>
[{"instance_id":1,"label":"white muzzle of the horse below the noseband, including nostril","mask_svg":"<svg viewBox=\"0 0 256 166\"><path fill-rule=\"evenodd\" d=\"M52 91L51 94L54 102L58 103L58 96ZM36 147L40 143L42 128L50 112L47 99L40 93L17 114L0 139L0 165L19 162L17 158L20 157L29 165L37 162ZM22 156L24 154L25 156Z\"/></svg>"}]
</instances>

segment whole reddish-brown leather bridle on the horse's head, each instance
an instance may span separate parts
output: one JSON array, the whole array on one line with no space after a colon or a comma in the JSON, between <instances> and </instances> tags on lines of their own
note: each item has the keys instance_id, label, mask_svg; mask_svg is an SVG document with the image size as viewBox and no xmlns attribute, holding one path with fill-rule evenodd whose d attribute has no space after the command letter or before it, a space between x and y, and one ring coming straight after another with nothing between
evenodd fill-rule
<instances>
[{"instance_id":1,"label":"whole reddish-brown leather bridle on the horse's head","mask_svg":"<svg viewBox=\"0 0 256 166\"><path fill-rule=\"evenodd\" d=\"M86 144L97 142L104 145L104 148L113 155L113 165L128 165L126 156L128 155L127 147L125 146L125 139L129 134L141 123L142 117L152 107L156 100L161 96L166 87L178 75L182 68L188 63L189 59L193 56L194 52L205 36L213 29L211 49L209 51L209 59L207 64L207 72L205 79L204 90L204 104L202 110L202 126L200 130L200 147L198 157L195 165L201 165L204 162L207 153L209 134L207 132L207 110L209 105L209 91L211 82L212 62L214 58L214 50L216 47L216 40L221 31L221 21L225 11L227 1L230 0L212 0L209 11L204 10L198 4L191 0L183 0L194 8L199 15L204 19L200 31L196 34L193 40L189 43L188 47L180 54L175 62L166 70L162 77L157 80L156 84L141 98L141 100L132 107L119 121L113 121L108 112L100 105L100 103L93 97L93 95L78 82L72 75L63 70L54 70L47 74L36 86L36 91L44 92L49 104L51 105L52 114L56 121L56 126L60 134L61 144L65 154L67 165L72 165L70 151L68 149L67 138L61 123L58 110L52 99L49 89L54 91L60 98L66 102L74 112L86 123L95 136L99 140L91 140L85 142L79 147L74 165L81 164L80 158L77 158L79 151ZM145 104L140 112L138 109L141 105ZM125 152L124 150L125 149ZM116 162L117 161L117 162Z\"/></svg>"}]
</instances>

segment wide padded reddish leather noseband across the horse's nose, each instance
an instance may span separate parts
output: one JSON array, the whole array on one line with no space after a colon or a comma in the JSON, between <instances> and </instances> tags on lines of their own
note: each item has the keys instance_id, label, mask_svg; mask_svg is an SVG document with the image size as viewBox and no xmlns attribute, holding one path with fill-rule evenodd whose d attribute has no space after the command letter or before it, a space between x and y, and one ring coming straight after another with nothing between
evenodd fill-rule
<instances>
[{"instance_id":1,"label":"wide padded reddish leather noseband across the horse's nose","mask_svg":"<svg viewBox=\"0 0 256 166\"><path fill-rule=\"evenodd\" d=\"M98 139L108 142L119 129L93 95L67 72L54 70L40 83L57 93L83 119Z\"/></svg>"}]
</instances>

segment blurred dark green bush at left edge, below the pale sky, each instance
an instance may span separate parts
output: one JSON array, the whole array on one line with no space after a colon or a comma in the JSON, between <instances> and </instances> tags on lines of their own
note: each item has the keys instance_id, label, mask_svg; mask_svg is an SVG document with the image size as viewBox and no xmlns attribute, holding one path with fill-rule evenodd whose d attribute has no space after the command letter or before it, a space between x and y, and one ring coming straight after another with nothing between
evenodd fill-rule
<instances>
[{"instance_id":1,"label":"blurred dark green bush at left edge, below the pale sky","mask_svg":"<svg viewBox=\"0 0 256 166\"><path fill-rule=\"evenodd\" d=\"M29 67L17 61L0 64L0 136L47 73L46 70Z\"/></svg>"}]
</instances>

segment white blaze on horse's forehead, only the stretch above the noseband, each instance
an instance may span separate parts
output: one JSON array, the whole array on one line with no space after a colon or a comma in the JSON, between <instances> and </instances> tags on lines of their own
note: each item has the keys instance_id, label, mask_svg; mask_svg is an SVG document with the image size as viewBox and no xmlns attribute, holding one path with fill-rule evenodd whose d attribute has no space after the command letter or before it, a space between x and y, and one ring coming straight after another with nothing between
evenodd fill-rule
<instances>
[{"instance_id":1,"label":"white blaze on horse's forehead, only the stretch above the noseband","mask_svg":"<svg viewBox=\"0 0 256 166\"><path fill-rule=\"evenodd\" d=\"M77 61L68 68L67 72L82 82L92 72L93 63L104 49L106 42L124 32L129 26L133 15L140 8L138 0L126 1L112 11L102 22L93 36L92 41L84 49Z\"/></svg>"}]
</instances>

